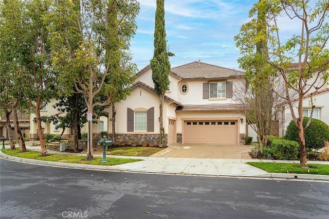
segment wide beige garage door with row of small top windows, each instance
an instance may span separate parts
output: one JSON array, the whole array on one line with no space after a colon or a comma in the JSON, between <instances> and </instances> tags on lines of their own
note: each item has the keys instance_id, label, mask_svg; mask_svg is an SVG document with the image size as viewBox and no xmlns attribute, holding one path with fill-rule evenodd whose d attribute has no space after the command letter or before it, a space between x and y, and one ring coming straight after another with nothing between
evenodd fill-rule
<instances>
[{"instance_id":1,"label":"wide beige garage door with row of small top windows","mask_svg":"<svg viewBox=\"0 0 329 219\"><path fill-rule=\"evenodd\" d=\"M184 143L238 144L237 121L185 121Z\"/></svg>"}]
</instances>

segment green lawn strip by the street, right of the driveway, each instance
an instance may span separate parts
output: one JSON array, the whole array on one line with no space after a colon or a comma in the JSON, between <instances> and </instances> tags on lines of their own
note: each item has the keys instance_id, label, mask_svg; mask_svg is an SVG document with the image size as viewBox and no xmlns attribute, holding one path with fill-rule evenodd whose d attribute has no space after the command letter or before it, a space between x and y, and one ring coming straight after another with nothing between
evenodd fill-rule
<instances>
[{"instance_id":1,"label":"green lawn strip by the street, right of the driveway","mask_svg":"<svg viewBox=\"0 0 329 219\"><path fill-rule=\"evenodd\" d=\"M329 165L308 163L309 168L305 169L300 168L299 163L247 162L247 164L265 170L269 173L329 175Z\"/></svg>"}]
</instances>

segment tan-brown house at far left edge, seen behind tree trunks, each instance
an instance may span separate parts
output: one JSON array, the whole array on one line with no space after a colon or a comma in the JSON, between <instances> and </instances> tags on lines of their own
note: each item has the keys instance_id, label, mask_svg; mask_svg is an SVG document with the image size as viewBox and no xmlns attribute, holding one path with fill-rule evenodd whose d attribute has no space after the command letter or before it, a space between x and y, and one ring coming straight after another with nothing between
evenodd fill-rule
<instances>
[{"instance_id":1,"label":"tan-brown house at far left edge, seen behind tree trunks","mask_svg":"<svg viewBox=\"0 0 329 219\"><path fill-rule=\"evenodd\" d=\"M14 130L14 122L12 119L12 115L10 116L10 125L12 130L12 137L14 140L17 140L17 135ZM28 136L30 132L30 115L25 113L17 113L17 118L19 119L19 125L21 127L22 135ZM0 136L5 136L8 139L8 133L7 133L7 120L5 115L0 116Z\"/></svg>"}]
</instances>

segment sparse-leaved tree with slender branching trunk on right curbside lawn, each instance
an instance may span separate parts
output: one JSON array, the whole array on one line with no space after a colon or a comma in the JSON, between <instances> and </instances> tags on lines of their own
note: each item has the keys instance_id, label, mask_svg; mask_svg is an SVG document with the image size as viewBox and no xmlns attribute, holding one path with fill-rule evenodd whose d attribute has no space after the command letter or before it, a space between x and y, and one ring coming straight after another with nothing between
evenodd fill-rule
<instances>
[{"instance_id":1,"label":"sparse-leaved tree with slender branching trunk on right curbside lawn","mask_svg":"<svg viewBox=\"0 0 329 219\"><path fill-rule=\"evenodd\" d=\"M312 118L314 109L313 93L328 83L329 78L329 2L325 0L268 0L271 7L266 8L266 31L257 31L257 11L264 8L254 5L249 11L251 21L242 25L240 33L235 36L237 47L242 57L238 60L243 69L251 69L257 52L257 43L264 39L268 54L263 54L261 67L264 74L257 74L258 81L265 82L268 75L281 77L284 81L285 95L272 90L286 100L291 116L298 127L300 145L300 166L307 168L304 133L309 126L303 126L303 98L310 94ZM283 40L283 31L280 29L282 17L288 19L290 26L300 25L300 30L287 40ZM265 57L266 56L266 57ZM297 69L291 69L291 64L298 62ZM291 90L297 94L298 113L294 111L294 102Z\"/></svg>"}]
</instances>

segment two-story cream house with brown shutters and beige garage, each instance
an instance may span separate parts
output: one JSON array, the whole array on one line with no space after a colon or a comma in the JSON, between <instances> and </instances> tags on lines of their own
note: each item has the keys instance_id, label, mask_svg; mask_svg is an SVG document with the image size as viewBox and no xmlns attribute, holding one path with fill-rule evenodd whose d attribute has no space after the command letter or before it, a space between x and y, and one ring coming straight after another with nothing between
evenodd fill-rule
<instances>
[{"instance_id":1,"label":"two-story cream house with brown shutters and beige garage","mask_svg":"<svg viewBox=\"0 0 329 219\"><path fill-rule=\"evenodd\" d=\"M232 100L236 80L244 72L203 62L171 69L163 104L165 145L172 143L240 144L246 135L245 117ZM119 141L159 138L159 98L150 65L137 73L131 95L116 106ZM109 115L112 108L108 108ZM109 121L112 133L112 121Z\"/></svg>"}]
</instances>

